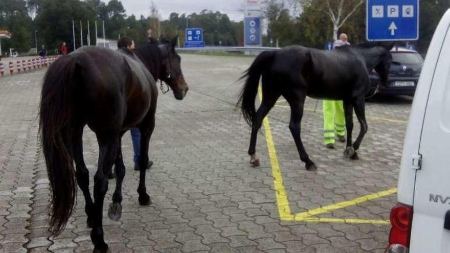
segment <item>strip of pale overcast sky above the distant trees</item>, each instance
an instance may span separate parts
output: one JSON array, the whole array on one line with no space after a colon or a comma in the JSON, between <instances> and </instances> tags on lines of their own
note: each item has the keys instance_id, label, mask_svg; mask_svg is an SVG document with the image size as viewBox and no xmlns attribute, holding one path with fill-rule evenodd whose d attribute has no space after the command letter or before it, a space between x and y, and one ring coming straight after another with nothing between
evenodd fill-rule
<instances>
[{"instance_id":1,"label":"strip of pale overcast sky above the distant trees","mask_svg":"<svg viewBox=\"0 0 450 253\"><path fill-rule=\"evenodd\" d=\"M109 0L102 1L109 2ZM121 2L128 16L134 14L139 18L141 15L147 17L150 14L151 0L121 0ZM204 9L226 13L231 20L243 19L243 13L238 10L243 0L153 0L153 2L163 19L168 19L171 12L191 14Z\"/></svg>"}]
</instances>

